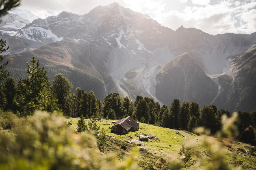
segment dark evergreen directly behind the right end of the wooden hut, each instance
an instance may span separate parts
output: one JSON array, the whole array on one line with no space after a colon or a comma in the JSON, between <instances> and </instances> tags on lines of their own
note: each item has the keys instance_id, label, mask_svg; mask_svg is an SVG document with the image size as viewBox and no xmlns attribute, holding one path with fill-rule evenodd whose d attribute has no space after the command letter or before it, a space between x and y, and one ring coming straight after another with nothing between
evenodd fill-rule
<instances>
[{"instance_id":1,"label":"dark evergreen directly behind the right end of the wooden hut","mask_svg":"<svg viewBox=\"0 0 256 170\"><path fill-rule=\"evenodd\" d=\"M146 100L144 99L139 100L136 110L137 110L137 119L141 120L141 118L144 117L145 123L149 123L151 117L150 117L150 113L148 112L148 104Z\"/></svg>"}]
</instances>

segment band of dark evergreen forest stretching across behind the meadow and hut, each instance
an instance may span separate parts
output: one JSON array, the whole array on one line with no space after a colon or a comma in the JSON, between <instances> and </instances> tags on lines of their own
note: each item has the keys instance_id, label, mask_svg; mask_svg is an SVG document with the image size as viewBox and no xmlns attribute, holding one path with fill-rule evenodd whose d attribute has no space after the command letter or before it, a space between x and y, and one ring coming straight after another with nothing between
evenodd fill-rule
<instances>
[{"instance_id":1,"label":"band of dark evergreen forest stretching across behind the meadow and hut","mask_svg":"<svg viewBox=\"0 0 256 170\"><path fill-rule=\"evenodd\" d=\"M10 69L9 74L5 68L7 64L1 65L0 107L12 110L18 116L33 115L35 110L59 110L66 117L82 115L86 118L95 116L121 119L130 116L142 123L190 132L194 127L204 126L215 133L221 128L221 117L232 115L228 110L218 110L214 105L200 109L195 102L180 103L178 99L170 101L171 106L168 107L142 96L137 96L135 102L131 102L128 97L122 98L117 93L109 93L104 97L104 85L98 79L63 66L48 67L46 71L46 68L40 67L39 60L36 61L35 57L27 63L27 70ZM52 83L50 79L53 80ZM73 83L80 86L75 91L72 90ZM249 137L242 137L241 141L255 143L253 127L256 127L256 111L237 113L240 134L244 134L246 129L251 132Z\"/></svg>"}]
</instances>

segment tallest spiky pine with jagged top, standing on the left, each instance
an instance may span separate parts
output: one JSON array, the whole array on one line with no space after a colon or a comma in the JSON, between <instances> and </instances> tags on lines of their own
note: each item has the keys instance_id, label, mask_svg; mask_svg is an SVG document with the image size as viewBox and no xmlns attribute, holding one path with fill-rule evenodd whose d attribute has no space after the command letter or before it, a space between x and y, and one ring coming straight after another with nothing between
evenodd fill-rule
<instances>
[{"instance_id":1,"label":"tallest spiky pine with jagged top, standing on the left","mask_svg":"<svg viewBox=\"0 0 256 170\"><path fill-rule=\"evenodd\" d=\"M44 67L40 67L39 60L35 60L33 57L30 60L31 65L27 63L27 82L28 82L28 101L32 104L37 104L36 98L39 97L39 93L43 90L43 88L49 85L49 77L47 76L47 71L44 70Z\"/></svg>"}]
</instances>

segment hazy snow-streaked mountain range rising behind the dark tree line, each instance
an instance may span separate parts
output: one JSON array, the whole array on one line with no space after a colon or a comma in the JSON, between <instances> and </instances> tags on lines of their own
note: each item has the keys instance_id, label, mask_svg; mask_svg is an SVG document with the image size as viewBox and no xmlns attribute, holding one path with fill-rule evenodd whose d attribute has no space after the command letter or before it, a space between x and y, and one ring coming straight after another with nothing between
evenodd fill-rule
<instances>
[{"instance_id":1,"label":"hazy snow-streaked mountain range rising behind the dark tree line","mask_svg":"<svg viewBox=\"0 0 256 170\"><path fill-rule=\"evenodd\" d=\"M115 2L84 15L63 11L30 23L8 14L1 20L10 68L24 69L36 56L46 68L97 79L100 98L119 93L165 105L179 99L230 111L256 109L256 32L174 31Z\"/></svg>"}]
</instances>

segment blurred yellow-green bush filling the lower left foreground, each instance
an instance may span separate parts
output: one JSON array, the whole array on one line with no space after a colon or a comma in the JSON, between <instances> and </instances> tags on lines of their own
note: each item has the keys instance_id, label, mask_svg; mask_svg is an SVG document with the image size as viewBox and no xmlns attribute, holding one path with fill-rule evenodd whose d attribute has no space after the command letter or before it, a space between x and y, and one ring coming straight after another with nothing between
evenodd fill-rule
<instances>
[{"instance_id":1,"label":"blurred yellow-green bush filling the lower left foreground","mask_svg":"<svg viewBox=\"0 0 256 170\"><path fill-rule=\"evenodd\" d=\"M4 112L2 115L5 118L0 119L1 170L139 168L135 153L124 161L118 161L115 155L101 154L93 135L75 134L58 113L37 111L33 117L27 118L17 118Z\"/></svg>"}]
</instances>

